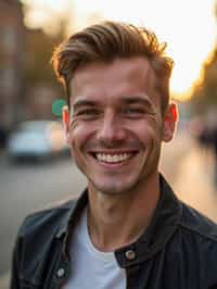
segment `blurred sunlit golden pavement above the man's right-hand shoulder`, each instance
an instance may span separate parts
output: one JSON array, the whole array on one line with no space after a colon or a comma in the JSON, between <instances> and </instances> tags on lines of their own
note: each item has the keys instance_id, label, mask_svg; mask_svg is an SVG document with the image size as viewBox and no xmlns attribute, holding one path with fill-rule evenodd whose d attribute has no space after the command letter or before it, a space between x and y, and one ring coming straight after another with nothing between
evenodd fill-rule
<instances>
[{"instance_id":1,"label":"blurred sunlit golden pavement above the man's right-hand shoulder","mask_svg":"<svg viewBox=\"0 0 217 289\"><path fill-rule=\"evenodd\" d=\"M192 144L181 159L174 189L178 197L217 222L217 188L214 185L214 158L210 151Z\"/></svg>"}]
</instances>

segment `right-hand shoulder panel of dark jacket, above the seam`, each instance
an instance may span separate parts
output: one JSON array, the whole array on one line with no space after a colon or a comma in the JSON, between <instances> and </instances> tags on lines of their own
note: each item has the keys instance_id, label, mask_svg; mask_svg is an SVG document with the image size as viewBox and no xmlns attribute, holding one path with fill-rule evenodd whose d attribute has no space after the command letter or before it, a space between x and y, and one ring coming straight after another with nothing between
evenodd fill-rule
<instances>
[{"instance_id":1,"label":"right-hand shoulder panel of dark jacket, above the seam","mask_svg":"<svg viewBox=\"0 0 217 289\"><path fill-rule=\"evenodd\" d=\"M190 205L184 203L181 203L181 205L180 228L182 231L201 240L216 243L217 246L217 224Z\"/></svg>"}]
</instances>

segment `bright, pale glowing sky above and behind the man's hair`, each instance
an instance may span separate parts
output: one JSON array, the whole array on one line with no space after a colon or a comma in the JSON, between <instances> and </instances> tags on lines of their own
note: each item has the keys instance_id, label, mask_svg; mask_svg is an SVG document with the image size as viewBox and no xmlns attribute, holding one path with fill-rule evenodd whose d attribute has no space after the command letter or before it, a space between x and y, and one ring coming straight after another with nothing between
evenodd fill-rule
<instances>
[{"instance_id":1,"label":"bright, pale glowing sky above and behind the man's hair","mask_svg":"<svg viewBox=\"0 0 217 289\"><path fill-rule=\"evenodd\" d=\"M200 79L202 65L216 45L217 20L214 0L23 0L31 8L26 24L47 25L67 15L69 28L78 30L99 18L144 25L167 42L167 53L175 61L170 90L186 100Z\"/></svg>"}]
</instances>

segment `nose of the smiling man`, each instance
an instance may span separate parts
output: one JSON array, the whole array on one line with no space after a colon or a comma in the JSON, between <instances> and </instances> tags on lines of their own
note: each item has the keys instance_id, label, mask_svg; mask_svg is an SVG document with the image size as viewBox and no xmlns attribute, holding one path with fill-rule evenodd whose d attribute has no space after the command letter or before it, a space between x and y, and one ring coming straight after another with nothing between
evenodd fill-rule
<instances>
[{"instance_id":1,"label":"nose of the smiling man","mask_svg":"<svg viewBox=\"0 0 217 289\"><path fill-rule=\"evenodd\" d=\"M122 120L118 120L118 116L113 112L106 113L98 130L98 140L104 146L114 146L125 138L126 129Z\"/></svg>"}]
</instances>

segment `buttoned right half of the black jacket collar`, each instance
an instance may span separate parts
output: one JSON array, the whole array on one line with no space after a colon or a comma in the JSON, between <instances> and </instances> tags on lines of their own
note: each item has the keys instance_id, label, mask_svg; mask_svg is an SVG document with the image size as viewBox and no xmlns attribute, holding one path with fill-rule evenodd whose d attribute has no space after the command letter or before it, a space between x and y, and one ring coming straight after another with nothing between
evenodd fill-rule
<instances>
[{"instance_id":1,"label":"buttoned right half of the black jacket collar","mask_svg":"<svg viewBox=\"0 0 217 289\"><path fill-rule=\"evenodd\" d=\"M161 197L154 215L144 234L132 244L116 250L122 267L129 267L151 259L162 250L174 235L181 219L181 202L177 199L165 178L159 175ZM127 252L133 252L133 259Z\"/></svg>"}]
</instances>

